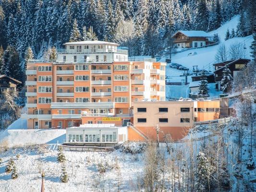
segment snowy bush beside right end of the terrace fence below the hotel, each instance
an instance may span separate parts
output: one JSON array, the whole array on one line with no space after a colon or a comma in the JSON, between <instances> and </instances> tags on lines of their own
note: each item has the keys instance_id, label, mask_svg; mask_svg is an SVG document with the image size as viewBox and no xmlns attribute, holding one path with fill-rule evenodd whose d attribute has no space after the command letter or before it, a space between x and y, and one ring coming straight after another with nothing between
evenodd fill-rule
<instances>
[{"instance_id":1,"label":"snowy bush beside right end of the terrace fence below the hotel","mask_svg":"<svg viewBox=\"0 0 256 192\"><path fill-rule=\"evenodd\" d=\"M137 154L142 153L146 149L145 142L128 142L127 144L123 144L120 148L124 153Z\"/></svg>"}]
</instances>

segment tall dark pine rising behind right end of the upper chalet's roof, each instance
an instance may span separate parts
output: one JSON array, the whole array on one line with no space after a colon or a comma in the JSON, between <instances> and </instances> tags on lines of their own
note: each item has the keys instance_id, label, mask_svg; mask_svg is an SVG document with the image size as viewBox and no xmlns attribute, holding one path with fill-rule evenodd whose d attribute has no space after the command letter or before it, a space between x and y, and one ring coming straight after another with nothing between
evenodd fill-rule
<instances>
[{"instance_id":1,"label":"tall dark pine rising behind right end of the upper chalet's roof","mask_svg":"<svg viewBox=\"0 0 256 192\"><path fill-rule=\"evenodd\" d=\"M206 0L198 0L195 10L195 29L207 31L209 24L209 12Z\"/></svg>"}]
</instances>

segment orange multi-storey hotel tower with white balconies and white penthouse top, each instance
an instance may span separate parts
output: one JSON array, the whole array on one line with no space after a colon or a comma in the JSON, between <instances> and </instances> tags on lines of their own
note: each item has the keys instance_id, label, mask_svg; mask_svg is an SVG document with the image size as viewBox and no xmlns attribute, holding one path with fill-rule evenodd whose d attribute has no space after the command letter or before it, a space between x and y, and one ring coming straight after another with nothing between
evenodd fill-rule
<instances>
[{"instance_id":1,"label":"orange multi-storey hotel tower with white balconies and white penthouse top","mask_svg":"<svg viewBox=\"0 0 256 192\"><path fill-rule=\"evenodd\" d=\"M65 43L55 62L27 63L29 129L85 123L133 122L133 102L165 100L166 63L128 61L118 44L86 40Z\"/></svg>"}]
</instances>

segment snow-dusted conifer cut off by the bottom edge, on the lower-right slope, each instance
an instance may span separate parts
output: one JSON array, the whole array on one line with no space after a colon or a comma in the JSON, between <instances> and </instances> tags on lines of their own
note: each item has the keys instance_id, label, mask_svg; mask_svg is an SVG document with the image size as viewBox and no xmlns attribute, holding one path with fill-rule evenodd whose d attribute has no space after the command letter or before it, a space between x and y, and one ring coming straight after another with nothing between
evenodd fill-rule
<instances>
[{"instance_id":1,"label":"snow-dusted conifer cut off by the bottom edge, on the lower-right slope","mask_svg":"<svg viewBox=\"0 0 256 192\"><path fill-rule=\"evenodd\" d=\"M197 170L195 174L195 191L210 191L210 180L212 174L211 165L203 152L199 152L196 156Z\"/></svg>"}]
</instances>

